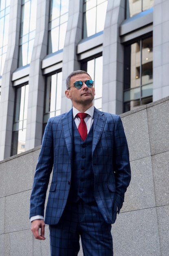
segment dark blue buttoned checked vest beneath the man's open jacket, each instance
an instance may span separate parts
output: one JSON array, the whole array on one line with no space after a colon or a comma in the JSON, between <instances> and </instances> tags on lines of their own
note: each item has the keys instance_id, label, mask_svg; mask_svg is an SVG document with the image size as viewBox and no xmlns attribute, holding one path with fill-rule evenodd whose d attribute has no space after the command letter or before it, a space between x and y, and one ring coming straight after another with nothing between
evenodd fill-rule
<instances>
[{"instance_id":1,"label":"dark blue buttoned checked vest beneath the man's open jacket","mask_svg":"<svg viewBox=\"0 0 169 256\"><path fill-rule=\"evenodd\" d=\"M78 202L81 199L84 202L94 202L94 173L92 169L93 126L85 141L83 141L74 121L73 135L73 164L68 201Z\"/></svg>"}]
</instances>

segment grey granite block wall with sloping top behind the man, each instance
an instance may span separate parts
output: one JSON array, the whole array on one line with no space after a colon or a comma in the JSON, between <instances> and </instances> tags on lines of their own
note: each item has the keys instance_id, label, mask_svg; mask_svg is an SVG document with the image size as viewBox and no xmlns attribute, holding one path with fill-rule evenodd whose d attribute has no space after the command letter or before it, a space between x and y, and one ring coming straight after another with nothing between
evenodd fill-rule
<instances>
[{"instance_id":1,"label":"grey granite block wall with sloping top behind the man","mask_svg":"<svg viewBox=\"0 0 169 256\"><path fill-rule=\"evenodd\" d=\"M114 256L169 255L169 97L121 115L132 180L112 225ZM0 255L50 255L35 240L29 199L40 147L0 162ZM78 256L83 256L82 248Z\"/></svg>"}]
</instances>

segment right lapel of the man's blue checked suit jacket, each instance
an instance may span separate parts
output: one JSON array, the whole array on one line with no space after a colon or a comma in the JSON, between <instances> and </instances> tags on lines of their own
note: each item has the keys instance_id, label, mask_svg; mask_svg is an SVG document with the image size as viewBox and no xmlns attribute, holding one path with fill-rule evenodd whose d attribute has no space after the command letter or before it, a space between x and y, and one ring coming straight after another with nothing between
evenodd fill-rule
<instances>
[{"instance_id":1,"label":"right lapel of the man's blue checked suit jacket","mask_svg":"<svg viewBox=\"0 0 169 256\"><path fill-rule=\"evenodd\" d=\"M103 132L103 128L105 125L105 115L94 108L94 116L93 116L93 142L92 142L92 153L97 146L97 143L100 139L101 133Z\"/></svg>"}]
</instances>

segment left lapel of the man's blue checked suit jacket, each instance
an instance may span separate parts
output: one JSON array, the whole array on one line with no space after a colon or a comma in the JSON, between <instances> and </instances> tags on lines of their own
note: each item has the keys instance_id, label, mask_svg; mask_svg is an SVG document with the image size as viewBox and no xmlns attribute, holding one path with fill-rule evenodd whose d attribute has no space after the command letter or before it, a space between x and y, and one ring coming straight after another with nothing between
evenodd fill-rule
<instances>
[{"instance_id":1,"label":"left lapel of the man's blue checked suit jacket","mask_svg":"<svg viewBox=\"0 0 169 256\"><path fill-rule=\"evenodd\" d=\"M72 109L63 115L61 120L61 127L65 138L65 143L68 149L70 159L72 159L72 147L73 147L73 114Z\"/></svg>"}]
</instances>

